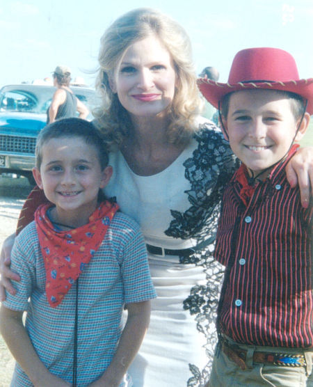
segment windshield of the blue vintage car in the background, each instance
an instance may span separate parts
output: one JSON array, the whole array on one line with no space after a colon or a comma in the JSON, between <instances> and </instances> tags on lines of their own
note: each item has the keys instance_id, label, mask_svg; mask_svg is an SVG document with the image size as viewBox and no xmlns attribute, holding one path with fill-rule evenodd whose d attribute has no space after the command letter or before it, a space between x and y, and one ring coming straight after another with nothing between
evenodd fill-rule
<instances>
[{"instance_id":1,"label":"windshield of the blue vintage car in the background","mask_svg":"<svg viewBox=\"0 0 313 387\"><path fill-rule=\"evenodd\" d=\"M38 100L32 93L8 91L0 96L1 111L36 111Z\"/></svg>"}]
</instances>

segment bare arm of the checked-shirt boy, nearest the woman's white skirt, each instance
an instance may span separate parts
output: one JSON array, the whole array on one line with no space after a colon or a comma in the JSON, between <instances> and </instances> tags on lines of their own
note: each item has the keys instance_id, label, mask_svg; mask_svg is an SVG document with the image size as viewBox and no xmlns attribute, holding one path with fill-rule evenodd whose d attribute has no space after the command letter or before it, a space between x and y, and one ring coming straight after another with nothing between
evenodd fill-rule
<instances>
[{"instance_id":1,"label":"bare arm of the checked-shirt boy, nearest the woman's white skirt","mask_svg":"<svg viewBox=\"0 0 313 387\"><path fill-rule=\"evenodd\" d=\"M150 322L150 301L129 303L128 317L116 353L100 379L90 387L118 387L134 360Z\"/></svg>"}]
</instances>

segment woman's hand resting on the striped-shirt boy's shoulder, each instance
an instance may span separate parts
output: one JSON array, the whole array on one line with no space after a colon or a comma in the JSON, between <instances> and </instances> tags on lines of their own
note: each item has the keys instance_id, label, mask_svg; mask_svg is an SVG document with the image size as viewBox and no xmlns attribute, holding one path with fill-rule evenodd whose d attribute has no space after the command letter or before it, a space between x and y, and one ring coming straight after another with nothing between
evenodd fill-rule
<instances>
[{"instance_id":1,"label":"woman's hand resting on the striped-shirt boy's shoulder","mask_svg":"<svg viewBox=\"0 0 313 387\"><path fill-rule=\"evenodd\" d=\"M286 174L291 187L298 184L302 206L309 207L313 187L313 147L298 148L286 166Z\"/></svg>"}]
</instances>

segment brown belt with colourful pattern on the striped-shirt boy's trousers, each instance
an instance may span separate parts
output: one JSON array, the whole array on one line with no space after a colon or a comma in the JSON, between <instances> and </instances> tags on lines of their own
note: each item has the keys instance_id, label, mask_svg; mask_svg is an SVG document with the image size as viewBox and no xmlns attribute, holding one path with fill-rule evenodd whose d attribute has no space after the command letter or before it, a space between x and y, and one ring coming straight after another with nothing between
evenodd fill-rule
<instances>
[{"instance_id":1,"label":"brown belt with colourful pattern on the striped-shirt boy's trousers","mask_svg":"<svg viewBox=\"0 0 313 387\"><path fill-rule=\"evenodd\" d=\"M247 350L241 349L238 345L231 344L223 339L222 351L224 354L239 365L241 370L246 370ZM305 367L307 365L303 354L284 354L277 352L255 351L252 355L252 361L255 364L273 364L283 367Z\"/></svg>"}]
</instances>

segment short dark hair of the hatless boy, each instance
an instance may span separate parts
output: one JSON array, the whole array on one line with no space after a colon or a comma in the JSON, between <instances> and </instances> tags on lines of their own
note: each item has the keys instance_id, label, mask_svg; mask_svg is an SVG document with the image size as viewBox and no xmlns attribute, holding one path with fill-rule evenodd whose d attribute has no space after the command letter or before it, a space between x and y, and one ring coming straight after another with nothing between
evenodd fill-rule
<instances>
[{"instance_id":1,"label":"short dark hair of the hatless boy","mask_svg":"<svg viewBox=\"0 0 313 387\"><path fill-rule=\"evenodd\" d=\"M38 169L42 163L43 145L51 139L60 139L62 137L79 137L86 144L93 145L97 150L102 170L108 165L109 150L99 129L93 123L81 118L63 118L44 127L38 135L35 148L36 167Z\"/></svg>"}]
</instances>

